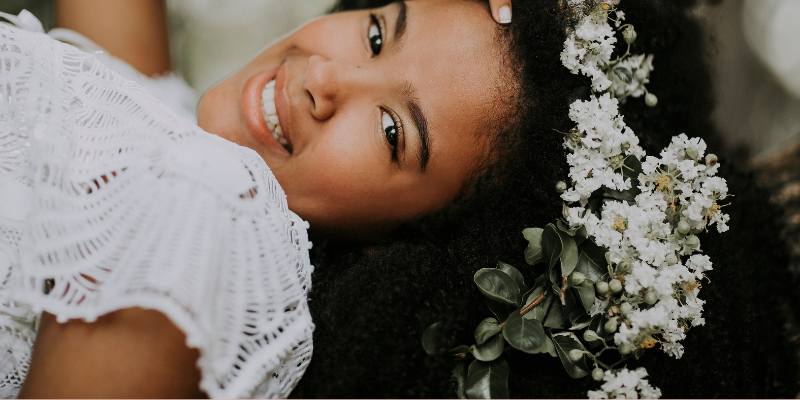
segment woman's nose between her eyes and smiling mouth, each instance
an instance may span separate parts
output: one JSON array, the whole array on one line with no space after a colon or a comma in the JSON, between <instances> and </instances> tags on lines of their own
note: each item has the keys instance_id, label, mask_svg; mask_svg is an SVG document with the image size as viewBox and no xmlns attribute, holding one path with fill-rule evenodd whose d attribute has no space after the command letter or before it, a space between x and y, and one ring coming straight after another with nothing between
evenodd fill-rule
<instances>
[{"instance_id":1,"label":"woman's nose between her eyes and smiling mouth","mask_svg":"<svg viewBox=\"0 0 800 400\"><path fill-rule=\"evenodd\" d=\"M338 61L320 55L308 58L304 88L311 98L311 113L314 118L326 120L336 113L336 107L352 86L355 75Z\"/></svg>"}]
</instances>

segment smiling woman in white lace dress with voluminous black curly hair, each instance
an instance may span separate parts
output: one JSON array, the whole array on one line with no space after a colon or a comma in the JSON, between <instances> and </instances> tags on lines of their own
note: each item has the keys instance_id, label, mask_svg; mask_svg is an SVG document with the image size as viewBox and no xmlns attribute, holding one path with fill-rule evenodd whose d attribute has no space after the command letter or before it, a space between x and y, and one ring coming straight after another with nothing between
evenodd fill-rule
<instances>
[{"instance_id":1,"label":"smiling woman in white lace dress with voluminous black curly hair","mask_svg":"<svg viewBox=\"0 0 800 400\"><path fill-rule=\"evenodd\" d=\"M560 62L569 2L517 1L505 25L492 3L343 1L209 89L196 124L102 52L0 24L0 388L453 395L422 331L442 321L466 341L484 316L473 273L521 265L520 231L560 215L558 132L589 90ZM691 3L625 6L661 71L658 107L621 106L650 151L681 131L717 147ZM9 16L35 30L30 18ZM782 249L762 246L776 214L723 165L737 197L731 234L703 240L725 266L704 291L707 326L683 359L642 362L668 397L794 395L772 311L798 299ZM514 395L590 384L549 358L511 363Z\"/></svg>"}]
</instances>

